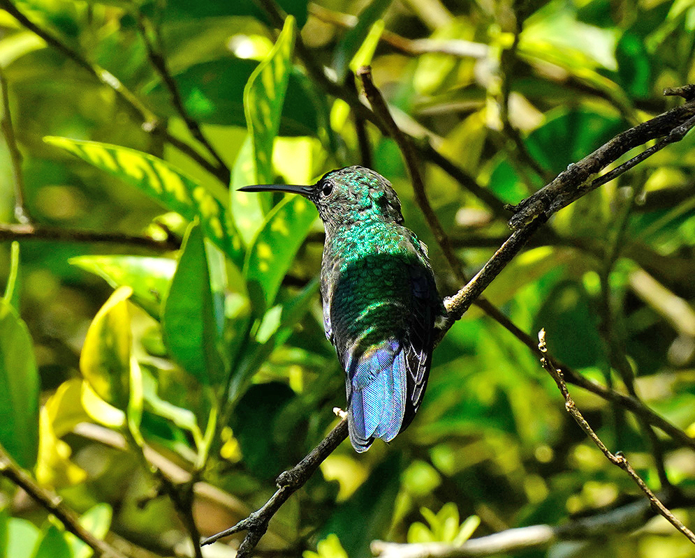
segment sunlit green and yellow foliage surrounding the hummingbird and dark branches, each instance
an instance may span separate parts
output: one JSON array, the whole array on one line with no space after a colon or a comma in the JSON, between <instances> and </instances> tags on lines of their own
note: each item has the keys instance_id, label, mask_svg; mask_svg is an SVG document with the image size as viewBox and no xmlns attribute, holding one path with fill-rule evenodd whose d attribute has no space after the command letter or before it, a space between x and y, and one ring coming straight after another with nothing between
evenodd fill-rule
<instances>
[{"instance_id":1,"label":"sunlit green and yellow foliage surrounding the hummingbird and dark branches","mask_svg":"<svg viewBox=\"0 0 695 558\"><path fill-rule=\"evenodd\" d=\"M504 203L679 103L665 86L695 81L689 0L279 3L291 15L280 35L250 0L0 1L14 133L0 140L0 442L129 556L193 555L191 518L205 536L246 517L344 406L317 294L316 212L230 186L369 163L430 247L440 292L461 286L395 143L367 125L360 150L339 98L354 96L349 70L371 63L418 139L427 194L471 276L509 234ZM544 327L566 364L691 436L694 141L561 211L485 292L523 331ZM571 391L654 490L693 488L692 449ZM13 483L0 488L0 555L91 553ZM641 497L534 355L474 308L434 352L411 427L365 455L342 444L259 552L458 544ZM692 510L676 513L693 525ZM631 529L509 556L695 556L661 518ZM215 546L203 554L233 555Z\"/></svg>"}]
</instances>

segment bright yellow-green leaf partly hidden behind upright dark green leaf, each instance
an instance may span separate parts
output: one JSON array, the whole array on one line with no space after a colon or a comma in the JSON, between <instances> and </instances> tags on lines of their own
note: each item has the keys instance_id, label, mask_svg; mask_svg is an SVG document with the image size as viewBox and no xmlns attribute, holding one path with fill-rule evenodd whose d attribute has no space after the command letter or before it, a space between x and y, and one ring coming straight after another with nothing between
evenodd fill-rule
<instances>
[{"instance_id":1,"label":"bright yellow-green leaf partly hidden behind upright dark green leaf","mask_svg":"<svg viewBox=\"0 0 695 558\"><path fill-rule=\"evenodd\" d=\"M167 257L78 256L68 261L105 279L114 289L131 287L133 301L155 319L161 315L161 300L176 271L176 260Z\"/></svg>"}]
</instances>

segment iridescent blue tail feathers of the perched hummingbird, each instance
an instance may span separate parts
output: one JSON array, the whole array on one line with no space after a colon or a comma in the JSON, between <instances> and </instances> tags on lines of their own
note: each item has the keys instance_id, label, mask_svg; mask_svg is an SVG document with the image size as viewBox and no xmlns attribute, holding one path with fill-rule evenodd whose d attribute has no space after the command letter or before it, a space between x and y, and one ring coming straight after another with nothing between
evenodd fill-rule
<instances>
[{"instance_id":1,"label":"iridescent blue tail feathers of the perched hummingbird","mask_svg":"<svg viewBox=\"0 0 695 558\"><path fill-rule=\"evenodd\" d=\"M407 367L401 343L392 339L351 354L346 390L353 448L367 451L374 438L390 442L400 432L406 409Z\"/></svg>"}]
</instances>

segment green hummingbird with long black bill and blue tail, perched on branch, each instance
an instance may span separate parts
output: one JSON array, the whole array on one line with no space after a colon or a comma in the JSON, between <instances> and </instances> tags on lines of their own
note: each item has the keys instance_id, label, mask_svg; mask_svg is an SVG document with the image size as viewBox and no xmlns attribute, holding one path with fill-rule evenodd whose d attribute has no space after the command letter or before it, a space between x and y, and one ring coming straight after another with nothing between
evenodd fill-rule
<instances>
[{"instance_id":1,"label":"green hummingbird with long black bill and blue tail, perched on branch","mask_svg":"<svg viewBox=\"0 0 695 558\"><path fill-rule=\"evenodd\" d=\"M323 329L345 371L353 448L390 442L423 400L444 305L427 246L404 227L400 201L381 174L353 166L312 186L244 186L314 202L325 228L321 260Z\"/></svg>"}]
</instances>

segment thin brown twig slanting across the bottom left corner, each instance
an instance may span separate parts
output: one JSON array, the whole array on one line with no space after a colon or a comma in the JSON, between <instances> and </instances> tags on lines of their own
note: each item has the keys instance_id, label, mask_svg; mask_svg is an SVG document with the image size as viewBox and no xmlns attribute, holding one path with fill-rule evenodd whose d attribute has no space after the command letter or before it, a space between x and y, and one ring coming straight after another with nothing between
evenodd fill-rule
<instances>
[{"instance_id":1,"label":"thin brown twig slanting across the bottom left corner","mask_svg":"<svg viewBox=\"0 0 695 558\"><path fill-rule=\"evenodd\" d=\"M48 513L52 513L63 524L66 531L75 535L89 548L94 550L94 554L97 557L126 558L110 544L102 541L100 538L96 538L85 527L82 527L78 516L63 503L63 499L39 486L27 472L24 472L24 469L10 458L2 446L0 446L0 476L4 476L22 488L24 492L27 492L34 502Z\"/></svg>"}]
</instances>

